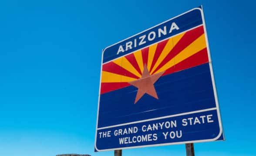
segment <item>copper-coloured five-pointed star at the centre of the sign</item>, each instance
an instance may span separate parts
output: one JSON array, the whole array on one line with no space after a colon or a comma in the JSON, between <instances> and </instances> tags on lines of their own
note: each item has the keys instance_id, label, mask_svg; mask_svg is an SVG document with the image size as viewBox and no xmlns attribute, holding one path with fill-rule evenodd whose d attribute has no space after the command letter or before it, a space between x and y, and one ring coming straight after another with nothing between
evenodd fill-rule
<instances>
[{"instance_id":1,"label":"copper-coloured five-pointed star at the centre of the sign","mask_svg":"<svg viewBox=\"0 0 256 156\"><path fill-rule=\"evenodd\" d=\"M129 84L138 88L138 92L137 92L134 104L136 104L136 102L145 93L158 99L158 96L155 91L154 83L164 74L164 72L165 71L162 71L154 75L150 75L150 73L148 72L147 65L145 64L141 78L135 81L128 82Z\"/></svg>"}]
</instances>

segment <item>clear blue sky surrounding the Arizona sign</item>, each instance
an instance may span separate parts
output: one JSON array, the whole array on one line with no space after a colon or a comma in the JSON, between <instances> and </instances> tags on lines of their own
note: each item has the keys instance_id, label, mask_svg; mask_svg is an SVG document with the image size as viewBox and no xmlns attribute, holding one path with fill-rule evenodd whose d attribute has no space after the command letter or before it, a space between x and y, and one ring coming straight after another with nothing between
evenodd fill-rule
<instances>
[{"instance_id":1,"label":"clear blue sky surrounding the Arizona sign","mask_svg":"<svg viewBox=\"0 0 256 156\"><path fill-rule=\"evenodd\" d=\"M255 3L6 0L0 3L0 155L94 153L101 50L203 5L226 141L196 156L255 155ZM185 145L123 150L184 156Z\"/></svg>"}]
</instances>

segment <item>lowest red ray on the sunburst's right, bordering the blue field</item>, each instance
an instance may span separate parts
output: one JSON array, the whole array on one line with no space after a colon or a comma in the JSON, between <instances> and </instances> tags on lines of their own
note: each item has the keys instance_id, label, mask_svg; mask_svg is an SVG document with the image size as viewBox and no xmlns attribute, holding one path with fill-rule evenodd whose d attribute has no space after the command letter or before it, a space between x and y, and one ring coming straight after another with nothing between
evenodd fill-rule
<instances>
[{"instance_id":1,"label":"lowest red ray on the sunburst's right, bordering the blue field","mask_svg":"<svg viewBox=\"0 0 256 156\"><path fill-rule=\"evenodd\" d=\"M182 62L179 62L175 66L168 68L162 76L172 74L177 71L182 71L188 68L192 68L197 65L202 65L207 62L209 62L209 59L207 49L205 48L190 56L189 58L186 58Z\"/></svg>"}]
</instances>

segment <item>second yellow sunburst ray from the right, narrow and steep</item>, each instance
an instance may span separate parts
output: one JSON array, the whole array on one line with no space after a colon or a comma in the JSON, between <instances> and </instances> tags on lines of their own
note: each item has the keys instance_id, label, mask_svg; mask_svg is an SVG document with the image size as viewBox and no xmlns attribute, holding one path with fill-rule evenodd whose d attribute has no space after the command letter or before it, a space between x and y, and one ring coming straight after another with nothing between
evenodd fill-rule
<instances>
[{"instance_id":1,"label":"second yellow sunburst ray from the right, narrow and steep","mask_svg":"<svg viewBox=\"0 0 256 156\"><path fill-rule=\"evenodd\" d=\"M164 58L168 55L168 53L172 50L172 48L179 42L179 40L182 38L182 36L185 33L179 34L177 36L174 36L172 38L170 38L168 40L168 42L165 45L165 48L163 49L163 51L161 52L159 58L157 59L157 61L155 62L154 67L152 68L152 71L150 74L153 73L153 71L155 71L155 69L158 67L158 65L160 65L160 63L164 60Z\"/></svg>"}]
</instances>

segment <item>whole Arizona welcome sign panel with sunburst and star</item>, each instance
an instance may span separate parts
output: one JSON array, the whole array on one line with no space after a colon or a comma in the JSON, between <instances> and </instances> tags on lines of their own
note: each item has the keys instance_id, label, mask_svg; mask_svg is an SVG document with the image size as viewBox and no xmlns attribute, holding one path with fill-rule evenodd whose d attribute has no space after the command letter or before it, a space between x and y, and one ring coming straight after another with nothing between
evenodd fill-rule
<instances>
[{"instance_id":1,"label":"whole Arizona welcome sign panel with sunburst and star","mask_svg":"<svg viewBox=\"0 0 256 156\"><path fill-rule=\"evenodd\" d=\"M102 53L95 151L224 140L202 7Z\"/></svg>"}]
</instances>

